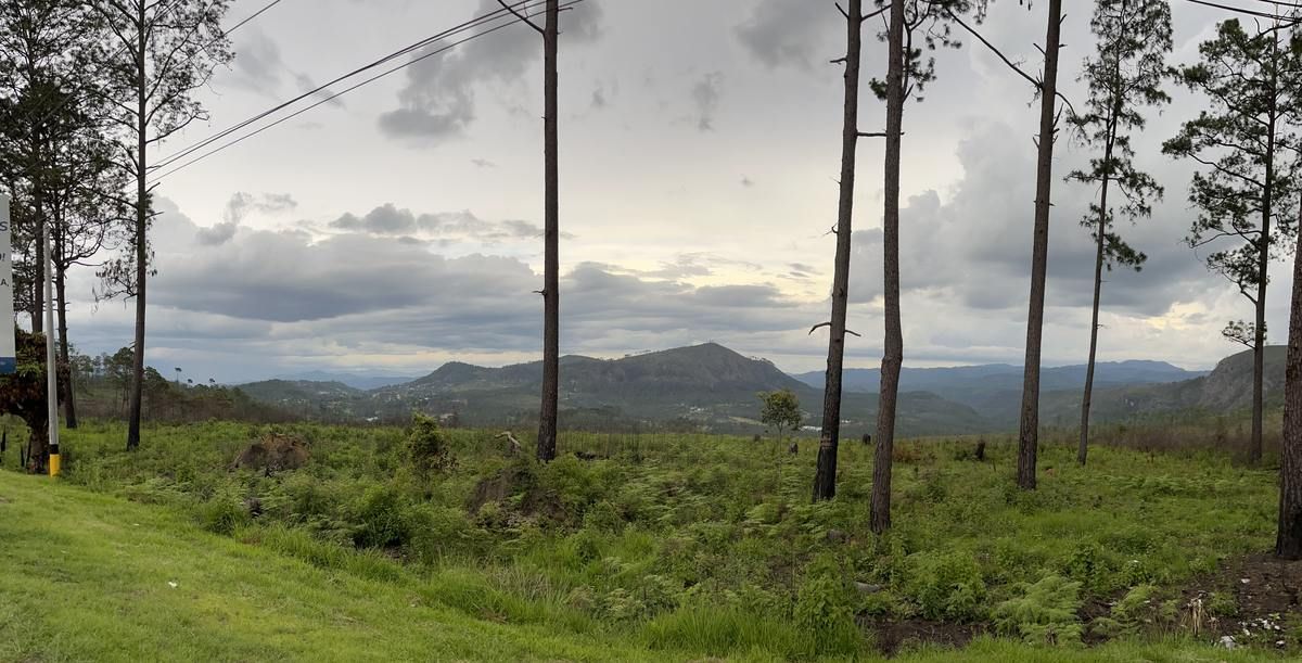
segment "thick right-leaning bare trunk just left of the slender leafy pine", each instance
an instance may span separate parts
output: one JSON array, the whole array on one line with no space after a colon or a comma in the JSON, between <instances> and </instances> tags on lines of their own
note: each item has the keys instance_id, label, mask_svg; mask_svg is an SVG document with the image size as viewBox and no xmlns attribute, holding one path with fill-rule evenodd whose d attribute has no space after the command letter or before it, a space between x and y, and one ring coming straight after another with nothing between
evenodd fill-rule
<instances>
[{"instance_id":1,"label":"thick right-leaning bare trunk just left of the slender leafy pine","mask_svg":"<svg viewBox=\"0 0 1302 663\"><path fill-rule=\"evenodd\" d=\"M1035 236L1031 250L1031 297L1026 314L1026 365L1022 421L1017 449L1017 485L1035 490L1035 455L1040 427L1040 343L1044 336L1044 279L1048 271L1053 141L1056 138L1057 65L1061 49L1062 0L1049 0L1044 36L1044 81L1040 83L1039 163L1035 177Z\"/></svg>"}]
</instances>

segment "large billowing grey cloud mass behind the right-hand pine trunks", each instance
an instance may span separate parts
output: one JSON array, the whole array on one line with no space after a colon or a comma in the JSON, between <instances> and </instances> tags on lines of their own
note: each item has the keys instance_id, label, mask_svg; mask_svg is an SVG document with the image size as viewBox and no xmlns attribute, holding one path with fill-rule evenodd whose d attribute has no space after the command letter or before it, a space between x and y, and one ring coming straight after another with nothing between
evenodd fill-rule
<instances>
[{"instance_id":1,"label":"large billowing grey cloud mass behind the right-hand pine trunks","mask_svg":"<svg viewBox=\"0 0 1302 663\"><path fill-rule=\"evenodd\" d=\"M1064 150L1066 152L1066 150ZM1026 305L1030 227L1035 198L1034 151L1026 137L1003 124L983 128L958 147L965 176L949 201L935 191L909 198L901 208L902 288L934 293L973 309L1016 309ZM1062 154L1056 168L1066 172L1079 154ZM1152 219L1117 231L1148 255L1139 274L1105 275L1104 301L1112 310L1161 315L1172 303L1193 301L1208 287L1207 274L1180 237L1189 212L1180 195L1184 171L1169 162L1150 164L1173 195L1155 207ZM1092 301L1094 250L1079 225L1094 190L1055 182L1049 231L1049 306L1088 306ZM852 298L870 301L881 292L881 231L854 233Z\"/></svg>"}]
</instances>

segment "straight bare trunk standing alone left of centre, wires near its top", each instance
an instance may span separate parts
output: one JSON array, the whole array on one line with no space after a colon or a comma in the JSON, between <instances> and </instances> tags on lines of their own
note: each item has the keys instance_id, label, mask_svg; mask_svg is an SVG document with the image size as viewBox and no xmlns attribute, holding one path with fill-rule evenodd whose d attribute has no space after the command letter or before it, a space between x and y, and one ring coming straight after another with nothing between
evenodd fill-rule
<instances>
[{"instance_id":1,"label":"straight bare trunk standing alone left of centre, wires near its top","mask_svg":"<svg viewBox=\"0 0 1302 663\"><path fill-rule=\"evenodd\" d=\"M560 399L560 165L556 137L556 43L560 29L560 0L547 0L543 29L543 151L546 162L544 257L543 257L543 406L538 417L538 460L556 457L556 409Z\"/></svg>"}]
</instances>

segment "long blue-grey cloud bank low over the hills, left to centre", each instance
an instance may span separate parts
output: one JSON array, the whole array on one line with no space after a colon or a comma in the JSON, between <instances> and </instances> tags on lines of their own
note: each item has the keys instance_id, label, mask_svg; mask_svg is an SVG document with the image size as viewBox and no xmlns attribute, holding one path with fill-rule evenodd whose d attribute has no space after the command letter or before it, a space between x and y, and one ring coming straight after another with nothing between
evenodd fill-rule
<instances>
[{"instance_id":1,"label":"long blue-grey cloud bank low over the hills, left to centre","mask_svg":"<svg viewBox=\"0 0 1302 663\"><path fill-rule=\"evenodd\" d=\"M461 358L536 352L540 309L533 290L542 276L519 259L453 258L362 232L318 240L301 231L245 231L197 251L199 227L171 205L160 208L159 227L169 231L158 237L152 361L174 357L202 374L241 365L247 374L301 357L410 363L431 352ZM380 210L368 216L378 223L404 216ZM694 287L598 263L575 264L561 288L566 346L583 352L599 352L612 339L631 348L775 333L814 315L769 284ZM108 313L87 343L117 348L130 336L128 311Z\"/></svg>"}]
</instances>

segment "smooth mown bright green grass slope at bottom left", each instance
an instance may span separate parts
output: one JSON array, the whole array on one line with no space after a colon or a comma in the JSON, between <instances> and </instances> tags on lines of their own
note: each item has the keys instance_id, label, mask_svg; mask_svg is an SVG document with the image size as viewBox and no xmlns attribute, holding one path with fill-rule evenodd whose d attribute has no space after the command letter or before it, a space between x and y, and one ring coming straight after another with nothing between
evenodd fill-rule
<instances>
[{"instance_id":1,"label":"smooth mown bright green grass slope at bottom left","mask_svg":"<svg viewBox=\"0 0 1302 663\"><path fill-rule=\"evenodd\" d=\"M647 659L0 472L0 660ZM169 586L176 582L176 589Z\"/></svg>"}]
</instances>

